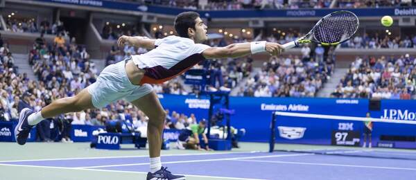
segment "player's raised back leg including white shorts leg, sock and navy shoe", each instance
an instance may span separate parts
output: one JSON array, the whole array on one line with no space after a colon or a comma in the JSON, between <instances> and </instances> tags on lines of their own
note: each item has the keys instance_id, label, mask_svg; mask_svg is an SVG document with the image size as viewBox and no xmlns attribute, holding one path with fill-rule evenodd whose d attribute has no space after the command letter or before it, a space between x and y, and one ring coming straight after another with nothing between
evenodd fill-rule
<instances>
[{"instance_id":1,"label":"player's raised back leg including white shorts leg, sock and navy shoe","mask_svg":"<svg viewBox=\"0 0 416 180\"><path fill-rule=\"evenodd\" d=\"M59 114L82 111L92 107L101 108L130 94L136 87L128 82L125 75L125 62L105 67L97 81L83 89L76 96L55 100L41 111L33 113L31 109L20 112L19 123L15 127L15 138L19 145L24 145L31 128L44 120Z\"/></svg>"}]
</instances>

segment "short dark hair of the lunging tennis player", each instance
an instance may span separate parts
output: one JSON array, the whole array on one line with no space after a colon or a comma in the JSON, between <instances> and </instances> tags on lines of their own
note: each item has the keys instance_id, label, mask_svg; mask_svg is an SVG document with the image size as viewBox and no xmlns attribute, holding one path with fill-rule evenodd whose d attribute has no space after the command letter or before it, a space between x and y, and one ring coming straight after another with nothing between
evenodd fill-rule
<instances>
[{"instance_id":1,"label":"short dark hair of the lunging tennis player","mask_svg":"<svg viewBox=\"0 0 416 180\"><path fill-rule=\"evenodd\" d=\"M189 37L188 28L193 28L195 30L195 19L199 16L198 12L188 11L182 12L175 18L175 30L177 35L180 37Z\"/></svg>"}]
</instances>

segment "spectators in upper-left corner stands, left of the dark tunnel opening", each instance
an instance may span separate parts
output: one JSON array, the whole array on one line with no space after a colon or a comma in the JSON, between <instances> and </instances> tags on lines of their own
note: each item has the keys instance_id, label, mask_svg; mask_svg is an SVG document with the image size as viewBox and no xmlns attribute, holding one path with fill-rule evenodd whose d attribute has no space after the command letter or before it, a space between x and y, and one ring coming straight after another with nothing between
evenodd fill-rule
<instances>
[{"instance_id":1,"label":"spectators in upper-left corner stands, left of the dark tunnel opening","mask_svg":"<svg viewBox=\"0 0 416 180\"><path fill-rule=\"evenodd\" d=\"M64 30L64 24L62 21L56 21L51 24L47 19L40 21L39 26L35 19L6 19L6 29L16 33L42 33L49 35L57 35L67 32Z\"/></svg>"}]
</instances>

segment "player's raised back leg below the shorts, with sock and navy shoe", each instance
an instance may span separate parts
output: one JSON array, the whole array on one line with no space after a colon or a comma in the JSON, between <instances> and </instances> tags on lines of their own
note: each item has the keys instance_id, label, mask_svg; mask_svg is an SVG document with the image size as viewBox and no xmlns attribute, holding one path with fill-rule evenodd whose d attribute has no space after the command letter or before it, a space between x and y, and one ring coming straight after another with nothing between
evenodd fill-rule
<instances>
[{"instance_id":1,"label":"player's raised back leg below the shorts, with sock and navy shoe","mask_svg":"<svg viewBox=\"0 0 416 180\"><path fill-rule=\"evenodd\" d=\"M31 109L22 109L19 114L19 123L15 127L15 138L19 145L24 145L33 126L46 118L59 114L78 112L94 107L92 96L87 89L83 89L76 96L54 100L41 111L33 112Z\"/></svg>"}]
</instances>

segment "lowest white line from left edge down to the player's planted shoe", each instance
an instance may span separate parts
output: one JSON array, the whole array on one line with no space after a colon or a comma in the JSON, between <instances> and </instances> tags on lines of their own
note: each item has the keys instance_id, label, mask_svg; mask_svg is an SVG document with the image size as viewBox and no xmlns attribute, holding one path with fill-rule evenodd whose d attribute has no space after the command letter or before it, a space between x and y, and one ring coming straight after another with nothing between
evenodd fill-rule
<instances>
[{"instance_id":1,"label":"lowest white line from left edge down to the player's planted shoe","mask_svg":"<svg viewBox=\"0 0 416 180\"><path fill-rule=\"evenodd\" d=\"M148 172L134 172L134 171L121 171L121 170L96 170L96 169L81 169L81 168L64 168L64 167L53 167L53 166L41 166L41 165L16 165L16 164L2 164L5 166L19 166L19 167L28 167L28 168L51 168L51 169L60 169L60 170L87 170L87 171L98 171L98 172L122 172L122 173L133 173L133 174L147 174ZM266 179L248 179L240 177L212 177L212 176L202 176L202 175L191 175L191 174L180 174L186 177L206 177L206 178L215 178L215 179L243 179L243 180L266 180Z\"/></svg>"}]
</instances>

